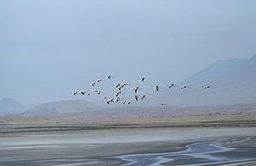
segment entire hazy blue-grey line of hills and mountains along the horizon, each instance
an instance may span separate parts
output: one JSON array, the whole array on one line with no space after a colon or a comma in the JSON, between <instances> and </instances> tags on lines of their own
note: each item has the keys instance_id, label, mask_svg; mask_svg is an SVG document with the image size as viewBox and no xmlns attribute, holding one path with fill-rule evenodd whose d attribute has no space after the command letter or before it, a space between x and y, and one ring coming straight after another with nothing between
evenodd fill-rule
<instances>
[{"instance_id":1,"label":"entire hazy blue-grey line of hills and mountains along the horizon","mask_svg":"<svg viewBox=\"0 0 256 166\"><path fill-rule=\"evenodd\" d=\"M250 59L219 60L210 67L177 83L178 86L187 84L190 89L163 88L159 92L149 94L143 102L132 105L139 108L160 107L160 103L167 103L168 107L227 105L236 103L256 103L256 56ZM213 88L204 89L202 86L211 84ZM113 107L117 105L114 104ZM127 107L127 106L125 106ZM26 106L14 99L0 100L0 113L34 112L50 115L70 112L84 112L98 109L112 109L99 102L84 100L66 100L38 104L27 109ZM138 108L137 108L138 109Z\"/></svg>"}]
</instances>

